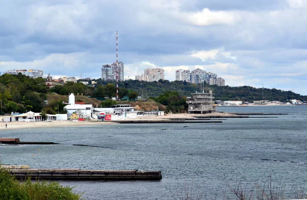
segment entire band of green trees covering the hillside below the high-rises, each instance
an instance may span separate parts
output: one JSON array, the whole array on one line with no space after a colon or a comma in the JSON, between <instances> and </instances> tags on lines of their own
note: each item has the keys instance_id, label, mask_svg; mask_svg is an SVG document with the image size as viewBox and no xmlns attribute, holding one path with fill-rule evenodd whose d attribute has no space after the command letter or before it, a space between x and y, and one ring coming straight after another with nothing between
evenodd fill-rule
<instances>
[{"instance_id":1,"label":"entire band of green trees covering the hillside below the high-rises","mask_svg":"<svg viewBox=\"0 0 307 200\"><path fill-rule=\"evenodd\" d=\"M49 88L45 84L44 78L30 78L22 75L4 74L0 76L0 100L1 113L19 112L45 112L47 114L56 114L63 112L65 104L62 100L51 100L48 103L47 94L69 95L70 93L79 93L84 96L103 99L105 97L111 99L116 97L116 82L104 81L101 79L93 79L97 84L93 86L84 85L79 82L67 82L65 84L56 85ZM184 110L187 105L185 98L191 93L202 90L212 90L215 100L278 100L286 102L290 99L307 100L307 96L302 96L292 91L282 91L276 88L255 88L251 86L217 86L207 85L206 83L193 84L185 81L168 81L159 80L153 82L145 82L138 80L127 80L119 83L119 98L125 96L128 99L136 99L137 96L144 98L152 98L153 100L166 105L168 110L177 112L176 110ZM263 97L263 98L262 98ZM47 104L46 104L47 103ZM110 102L107 102L108 105ZM113 102L114 103L114 102Z\"/></svg>"}]
</instances>

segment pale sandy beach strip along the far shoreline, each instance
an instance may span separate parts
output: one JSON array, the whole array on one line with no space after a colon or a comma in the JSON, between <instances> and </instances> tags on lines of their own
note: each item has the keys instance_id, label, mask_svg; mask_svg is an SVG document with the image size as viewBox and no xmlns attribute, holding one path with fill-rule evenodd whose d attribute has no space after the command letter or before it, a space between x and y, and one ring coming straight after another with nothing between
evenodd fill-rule
<instances>
[{"instance_id":1,"label":"pale sandy beach strip along the far shoreline","mask_svg":"<svg viewBox=\"0 0 307 200\"><path fill-rule=\"evenodd\" d=\"M127 120L167 120L173 118L193 118L193 116L234 116L227 113L210 113L210 114L168 114L165 116L141 116L136 119ZM116 122L116 121L115 121ZM48 128L48 127L65 127L65 126L97 126L113 124L114 122L102 122L101 120L90 121L38 121L38 122L0 122L0 130L21 129L21 128ZM5 125L7 124L7 128Z\"/></svg>"}]
</instances>

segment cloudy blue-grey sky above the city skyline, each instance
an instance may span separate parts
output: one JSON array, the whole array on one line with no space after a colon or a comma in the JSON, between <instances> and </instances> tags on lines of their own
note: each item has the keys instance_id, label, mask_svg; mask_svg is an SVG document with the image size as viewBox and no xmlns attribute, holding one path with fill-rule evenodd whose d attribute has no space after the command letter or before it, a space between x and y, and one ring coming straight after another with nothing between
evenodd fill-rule
<instances>
[{"instance_id":1,"label":"cloudy blue-grey sky above the city skyline","mask_svg":"<svg viewBox=\"0 0 307 200\"><path fill-rule=\"evenodd\" d=\"M2 0L0 72L125 78L162 68L203 69L229 86L307 95L307 0Z\"/></svg>"}]
</instances>

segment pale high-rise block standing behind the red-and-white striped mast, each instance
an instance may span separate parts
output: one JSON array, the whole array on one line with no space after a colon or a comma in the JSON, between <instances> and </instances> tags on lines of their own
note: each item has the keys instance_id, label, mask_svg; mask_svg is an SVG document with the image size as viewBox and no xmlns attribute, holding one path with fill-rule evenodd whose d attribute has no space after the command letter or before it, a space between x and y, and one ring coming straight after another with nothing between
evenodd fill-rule
<instances>
[{"instance_id":1,"label":"pale high-rise block standing behind the red-and-white striped mast","mask_svg":"<svg viewBox=\"0 0 307 200\"><path fill-rule=\"evenodd\" d=\"M101 79L105 81L116 80L118 72L119 81L124 81L124 63L114 62L112 64L104 64L101 68Z\"/></svg>"}]
</instances>

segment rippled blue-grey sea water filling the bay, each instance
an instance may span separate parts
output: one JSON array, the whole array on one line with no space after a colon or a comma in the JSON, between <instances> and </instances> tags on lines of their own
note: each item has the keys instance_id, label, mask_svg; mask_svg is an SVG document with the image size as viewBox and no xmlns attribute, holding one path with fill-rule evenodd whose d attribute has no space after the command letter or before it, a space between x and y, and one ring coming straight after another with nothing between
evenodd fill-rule
<instances>
[{"instance_id":1,"label":"rippled blue-grey sea water filling the bay","mask_svg":"<svg viewBox=\"0 0 307 200\"><path fill-rule=\"evenodd\" d=\"M266 187L268 177L282 186L286 198L295 198L291 196L295 188L307 183L307 106L217 107L217 111L288 115L223 123L8 128L1 130L0 138L60 144L0 145L0 163L162 171L161 181L59 181L74 187L82 199L186 199L186 194L194 199L236 199L231 188L249 193L255 184Z\"/></svg>"}]
</instances>

